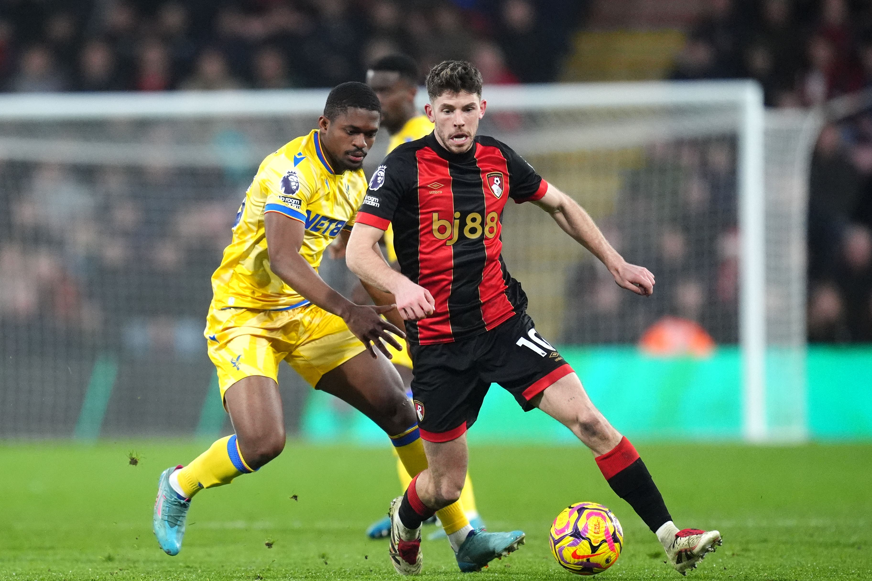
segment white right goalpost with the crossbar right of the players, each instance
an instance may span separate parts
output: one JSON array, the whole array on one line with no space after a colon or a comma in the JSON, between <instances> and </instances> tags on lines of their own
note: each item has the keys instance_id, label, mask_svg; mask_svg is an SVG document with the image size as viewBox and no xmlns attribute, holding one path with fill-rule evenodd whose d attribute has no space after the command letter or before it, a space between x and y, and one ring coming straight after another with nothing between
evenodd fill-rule
<instances>
[{"instance_id":1,"label":"white right goalpost with the crossbar right of the players","mask_svg":"<svg viewBox=\"0 0 872 581\"><path fill-rule=\"evenodd\" d=\"M565 84L530 86L520 91L491 87L484 97L492 99L488 105L491 111L689 105L732 105L735 108L738 112L734 130L739 150L736 156L741 248L739 341L743 361L744 434L750 442L769 439L766 428L766 124L760 84L751 80ZM711 127L699 130L711 131ZM521 144L522 141L518 143Z\"/></svg>"}]
</instances>

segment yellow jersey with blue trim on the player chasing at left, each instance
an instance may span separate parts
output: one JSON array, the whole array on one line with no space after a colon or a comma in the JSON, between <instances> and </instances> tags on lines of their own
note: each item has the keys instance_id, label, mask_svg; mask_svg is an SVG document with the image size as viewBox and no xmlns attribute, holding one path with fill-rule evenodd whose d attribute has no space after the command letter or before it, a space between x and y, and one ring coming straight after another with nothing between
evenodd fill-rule
<instances>
[{"instance_id":1,"label":"yellow jersey with blue trim on the player chasing at left","mask_svg":"<svg viewBox=\"0 0 872 581\"><path fill-rule=\"evenodd\" d=\"M265 213L303 222L300 254L317 269L324 249L343 228L351 229L365 194L363 170L334 172L317 130L269 155L245 193L233 240L212 275L212 307L284 310L309 304L269 269Z\"/></svg>"}]
</instances>

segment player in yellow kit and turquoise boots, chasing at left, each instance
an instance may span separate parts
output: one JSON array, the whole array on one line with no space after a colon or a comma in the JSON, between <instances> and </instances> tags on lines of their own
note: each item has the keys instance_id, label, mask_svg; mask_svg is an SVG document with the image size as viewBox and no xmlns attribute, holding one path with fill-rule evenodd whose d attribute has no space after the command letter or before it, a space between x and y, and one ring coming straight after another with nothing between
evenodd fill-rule
<instances>
[{"instance_id":1,"label":"player in yellow kit and turquoise boots, chasing at left","mask_svg":"<svg viewBox=\"0 0 872 581\"><path fill-rule=\"evenodd\" d=\"M318 128L264 159L242 201L233 240L212 276L205 331L235 434L160 475L153 530L169 555L181 550L195 494L282 452L276 376L283 360L384 429L412 476L427 467L412 402L382 343L399 349L388 332L405 336L379 316L393 307L356 305L317 274L324 249L339 235L347 239L364 201L361 166L380 117L378 97L366 84L338 85ZM498 554L487 543L490 533L473 531L456 503L439 519L459 561L472 555L487 564Z\"/></svg>"}]
</instances>

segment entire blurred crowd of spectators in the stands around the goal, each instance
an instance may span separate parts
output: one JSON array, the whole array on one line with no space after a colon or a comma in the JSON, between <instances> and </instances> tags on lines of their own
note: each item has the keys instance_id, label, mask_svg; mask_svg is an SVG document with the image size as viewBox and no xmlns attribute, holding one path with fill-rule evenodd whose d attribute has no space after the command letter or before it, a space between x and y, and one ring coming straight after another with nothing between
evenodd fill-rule
<instances>
[{"instance_id":1,"label":"entire blurred crowd of spectators in the stands around the goal","mask_svg":"<svg viewBox=\"0 0 872 581\"><path fill-rule=\"evenodd\" d=\"M872 85L872 3L703 1L671 78L756 78L773 107L821 105ZM0 0L0 90L323 87L362 80L367 64L397 51L422 73L464 57L489 84L548 82L588 4ZM239 133L216 138L232 145ZM582 263L569 280L563 341L634 342L666 316L737 341L734 156L729 139L644 152L602 226L662 290L638 307ZM133 350L200 353L208 277L250 172L0 161L6 348L32 351L45 334L71 345L86 333ZM809 339L872 341L872 114L823 128L808 234Z\"/></svg>"}]
</instances>

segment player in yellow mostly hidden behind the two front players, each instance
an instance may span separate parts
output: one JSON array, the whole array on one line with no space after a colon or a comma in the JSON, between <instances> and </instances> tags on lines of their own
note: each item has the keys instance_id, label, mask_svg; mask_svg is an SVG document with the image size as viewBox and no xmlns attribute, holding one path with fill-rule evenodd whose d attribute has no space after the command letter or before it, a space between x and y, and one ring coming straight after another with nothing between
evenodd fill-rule
<instances>
[{"instance_id":1,"label":"player in yellow mostly hidden behind the two front players","mask_svg":"<svg viewBox=\"0 0 872 581\"><path fill-rule=\"evenodd\" d=\"M371 86L381 102L382 125L391 134L391 141L387 145L387 153L392 152L398 145L414 141L433 132L433 123L430 122L424 113L418 111L415 107L415 95L418 93L418 78L418 65L415 64L415 61L411 57L399 54L380 58L366 72L366 84ZM388 227L385 232L384 242L388 263L396 267L397 254L393 249L393 230L391 227ZM377 305L390 305L392 303L392 297L382 293L378 288L371 287L371 285L365 283L364 287ZM385 317L395 326L404 328L403 319L396 310L386 313ZM399 343L403 347L401 350L391 348L393 354L392 362L399 371L399 375L405 383L405 388L408 390L412 382L412 358L409 356L409 349L405 344L405 340L400 339ZM412 391L409 390L407 393L409 399L412 399ZM403 468L403 464L399 460L397 462L397 473L399 474L399 483L402 486L402 490L405 490L409 487L409 483L412 482L412 477L408 475L408 472ZM467 481L464 484L459 502L473 529L483 528L485 524L479 516L478 510L476 510L473 483L469 479L468 472ZM382 538L390 534L391 519L388 517L376 521L366 530L366 535L370 538ZM436 536L439 536L439 532L433 535L433 537Z\"/></svg>"}]
</instances>

